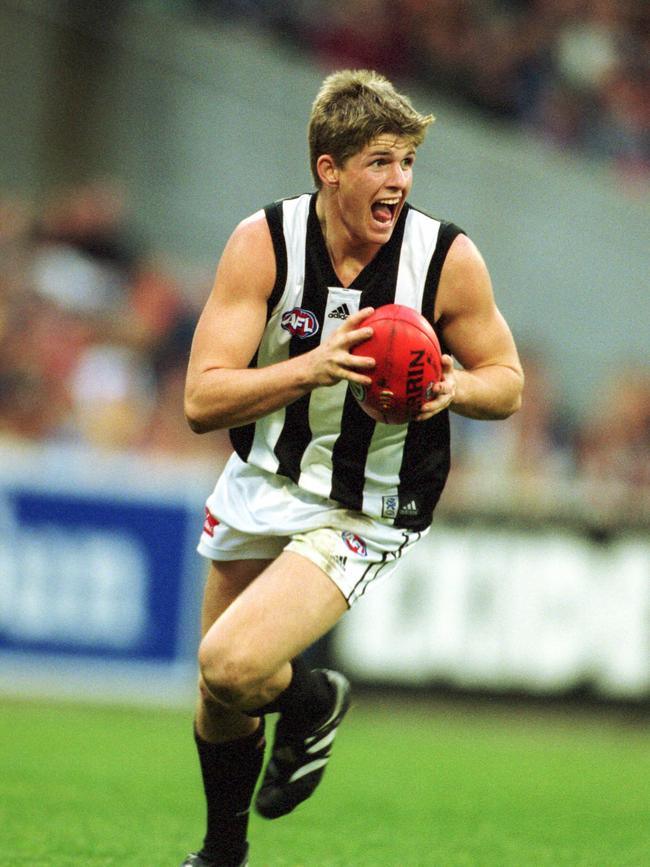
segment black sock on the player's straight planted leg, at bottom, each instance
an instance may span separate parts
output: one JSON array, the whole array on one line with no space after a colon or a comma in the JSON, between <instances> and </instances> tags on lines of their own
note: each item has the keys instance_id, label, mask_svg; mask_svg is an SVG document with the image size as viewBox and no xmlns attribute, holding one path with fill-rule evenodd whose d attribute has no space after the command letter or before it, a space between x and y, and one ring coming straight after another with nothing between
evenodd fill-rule
<instances>
[{"instance_id":1,"label":"black sock on the player's straight planted leg, at bottom","mask_svg":"<svg viewBox=\"0 0 650 867\"><path fill-rule=\"evenodd\" d=\"M264 720L252 734L212 744L194 730L207 803L201 854L218 863L240 864L246 853L248 810L264 759Z\"/></svg>"}]
</instances>

